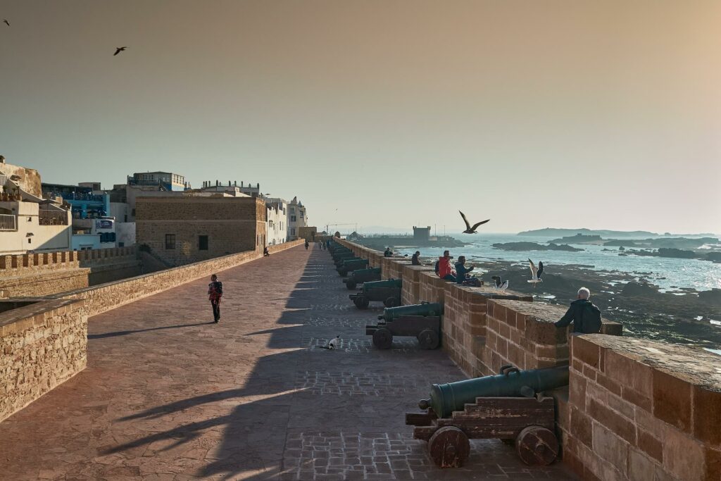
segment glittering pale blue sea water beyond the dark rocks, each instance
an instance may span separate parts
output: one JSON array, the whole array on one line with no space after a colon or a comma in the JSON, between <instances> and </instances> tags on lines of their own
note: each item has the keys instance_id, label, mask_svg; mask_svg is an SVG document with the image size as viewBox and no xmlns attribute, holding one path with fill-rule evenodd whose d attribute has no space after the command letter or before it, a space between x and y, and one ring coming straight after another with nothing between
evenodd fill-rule
<instances>
[{"instance_id":1,"label":"glittering pale blue sea water beyond the dark rocks","mask_svg":"<svg viewBox=\"0 0 721 481\"><path fill-rule=\"evenodd\" d=\"M582 264L594 270L610 270L629 273L637 278L645 278L654 283L661 291L676 291L678 288L694 288L697 291L708 291L721 288L721 264L708 260L673 259L670 257L650 257L629 254L619 255L619 247L603 247L592 244L570 244L583 249L579 252L559 250L507 251L496 249L492 244L506 242L537 242L546 244L557 237L518 236L516 234L450 234L463 242L470 242L464 247L454 247L451 255L458 259L465 255L470 262L478 260L505 260L528 265L528 259L536 265L543 261L546 272L553 271L553 265ZM410 241L412 242L412 241ZM710 246L720 248L721 246ZM628 247L627 247L628 248ZM632 247L638 249L638 247ZM603 251L608 249L608 251ZM439 257L443 255L443 247L420 247L397 249L401 254L412 255L420 250L421 257ZM593 267L591 267L593 266Z\"/></svg>"}]
</instances>

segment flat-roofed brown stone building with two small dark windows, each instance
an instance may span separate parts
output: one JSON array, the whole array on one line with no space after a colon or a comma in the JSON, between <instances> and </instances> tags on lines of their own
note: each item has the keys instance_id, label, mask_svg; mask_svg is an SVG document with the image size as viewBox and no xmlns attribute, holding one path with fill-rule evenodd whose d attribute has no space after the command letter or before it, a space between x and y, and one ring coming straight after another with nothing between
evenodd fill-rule
<instances>
[{"instance_id":1,"label":"flat-roofed brown stone building with two small dark windows","mask_svg":"<svg viewBox=\"0 0 721 481\"><path fill-rule=\"evenodd\" d=\"M249 250L267 242L265 202L217 196L139 197L136 242L167 266Z\"/></svg>"}]
</instances>

